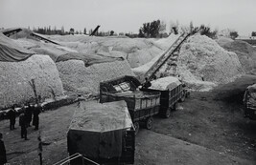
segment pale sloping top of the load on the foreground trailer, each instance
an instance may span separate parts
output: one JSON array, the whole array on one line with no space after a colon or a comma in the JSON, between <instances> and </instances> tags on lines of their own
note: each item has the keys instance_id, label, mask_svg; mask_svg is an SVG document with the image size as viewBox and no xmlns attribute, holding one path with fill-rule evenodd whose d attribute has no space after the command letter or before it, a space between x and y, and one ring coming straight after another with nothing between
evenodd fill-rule
<instances>
[{"instance_id":1,"label":"pale sloping top of the load on the foreground trailer","mask_svg":"<svg viewBox=\"0 0 256 165\"><path fill-rule=\"evenodd\" d=\"M81 102L70 128L91 132L106 132L130 128L132 125L125 101L110 103Z\"/></svg>"}]
</instances>

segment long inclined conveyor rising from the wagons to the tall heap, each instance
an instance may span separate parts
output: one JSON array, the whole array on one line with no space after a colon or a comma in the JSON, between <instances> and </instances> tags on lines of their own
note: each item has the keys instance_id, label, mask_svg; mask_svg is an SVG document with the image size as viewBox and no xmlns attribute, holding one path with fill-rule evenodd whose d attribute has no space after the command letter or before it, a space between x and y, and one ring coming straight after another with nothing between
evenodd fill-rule
<instances>
[{"instance_id":1,"label":"long inclined conveyor rising from the wagons to the tall heap","mask_svg":"<svg viewBox=\"0 0 256 165\"><path fill-rule=\"evenodd\" d=\"M175 43L167 49L160 57L159 59L151 66L150 70L145 73L144 77L148 77L148 79L151 81L154 74L159 71L159 69L166 63L166 61L172 57L177 55L177 52L179 51L180 46L186 39L190 36L191 33L184 32L182 33L176 40Z\"/></svg>"}]
</instances>

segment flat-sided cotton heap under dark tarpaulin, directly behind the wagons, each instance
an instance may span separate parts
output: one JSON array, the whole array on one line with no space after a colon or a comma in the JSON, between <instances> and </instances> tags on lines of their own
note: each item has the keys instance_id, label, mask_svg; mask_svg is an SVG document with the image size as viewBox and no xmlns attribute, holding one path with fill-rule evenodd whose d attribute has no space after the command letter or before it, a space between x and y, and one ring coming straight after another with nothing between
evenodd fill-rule
<instances>
[{"instance_id":1,"label":"flat-sided cotton heap under dark tarpaulin, directly behind the wagons","mask_svg":"<svg viewBox=\"0 0 256 165\"><path fill-rule=\"evenodd\" d=\"M124 75L134 75L127 60L94 64L89 67L85 67L81 60L62 61L56 65L64 90L78 93L98 94L100 82Z\"/></svg>"}]
</instances>

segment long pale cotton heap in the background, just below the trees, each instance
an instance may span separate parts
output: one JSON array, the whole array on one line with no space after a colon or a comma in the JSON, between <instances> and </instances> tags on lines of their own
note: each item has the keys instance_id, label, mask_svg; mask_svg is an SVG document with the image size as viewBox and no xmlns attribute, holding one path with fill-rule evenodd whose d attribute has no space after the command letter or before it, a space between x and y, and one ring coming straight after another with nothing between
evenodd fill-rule
<instances>
[{"instance_id":1,"label":"long pale cotton heap in the background, just below the trees","mask_svg":"<svg viewBox=\"0 0 256 165\"><path fill-rule=\"evenodd\" d=\"M159 52L163 52L161 44L151 39L95 37L86 35L50 36L58 43L85 54L124 57L131 68L149 62Z\"/></svg>"}]
</instances>

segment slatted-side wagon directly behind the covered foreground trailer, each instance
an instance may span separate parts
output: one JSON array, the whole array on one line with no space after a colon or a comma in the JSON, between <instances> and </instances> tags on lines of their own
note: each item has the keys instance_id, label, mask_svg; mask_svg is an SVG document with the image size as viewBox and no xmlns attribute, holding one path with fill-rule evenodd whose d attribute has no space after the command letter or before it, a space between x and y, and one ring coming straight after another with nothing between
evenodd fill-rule
<instances>
[{"instance_id":1,"label":"slatted-side wagon directly behind the covered foreground trailer","mask_svg":"<svg viewBox=\"0 0 256 165\"><path fill-rule=\"evenodd\" d=\"M128 112L131 116L138 134L140 125L143 124L147 129L151 129L152 116L159 113L160 93L142 92L138 90L141 83L133 76L122 76L100 83L100 102L111 102L125 100L128 104Z\"/></svg>"}]
</instances>

